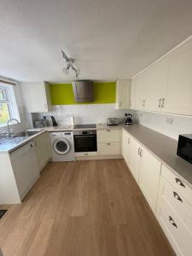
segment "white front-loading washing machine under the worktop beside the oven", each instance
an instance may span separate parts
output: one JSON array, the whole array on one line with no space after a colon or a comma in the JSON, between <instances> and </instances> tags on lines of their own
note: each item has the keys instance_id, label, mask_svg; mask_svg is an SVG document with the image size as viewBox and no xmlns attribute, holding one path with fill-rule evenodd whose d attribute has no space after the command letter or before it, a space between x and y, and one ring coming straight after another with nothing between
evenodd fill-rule
<instances>
[{"instance_id":1,"label":"white front-loading washing machine under the worktop beside the oven","mask_svg":"<svg viewBox=\"0 0 192 256\"><path fill-rule=\"evenodd\" d=\"M52 161L74 161L73 131L49 132Z\"/></svg>"}]
</instances>

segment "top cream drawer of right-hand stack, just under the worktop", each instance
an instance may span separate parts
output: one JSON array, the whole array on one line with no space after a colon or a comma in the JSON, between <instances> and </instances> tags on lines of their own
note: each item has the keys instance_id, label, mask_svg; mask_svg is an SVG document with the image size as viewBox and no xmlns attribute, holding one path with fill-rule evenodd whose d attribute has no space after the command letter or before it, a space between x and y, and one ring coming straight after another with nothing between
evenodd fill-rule
<instances>
[{"instance_id":1,"label":"top cream drawer of right-hand stack, just under the worktop","mask_svg":"<svg viewBox=\"0 0 192 256\"><path fill-rule=\"evenodd\" d=\"M183 182L180 177L174 175L166 166L162 166L162 176L177 189L177 192L185 198L192 206L192 189Z\"/></svg>"}]
</instances>

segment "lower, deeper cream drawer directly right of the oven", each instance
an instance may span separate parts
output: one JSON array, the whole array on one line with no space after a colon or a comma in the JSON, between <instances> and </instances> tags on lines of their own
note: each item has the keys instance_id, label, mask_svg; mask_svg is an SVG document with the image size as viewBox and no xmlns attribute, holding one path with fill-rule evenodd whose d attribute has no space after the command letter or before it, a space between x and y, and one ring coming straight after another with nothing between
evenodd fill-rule
<instances>
[{"instance_id":1,"label":"lower, deeper cream drawer directly right of the oven","mask_svg":"<svg viewBox=\"0 0 192 256\"><path fill-rule=\"evenodd\" d=\"M98 143L99 155L119 155L120 143Z\"/></svg>"}]
</instances>

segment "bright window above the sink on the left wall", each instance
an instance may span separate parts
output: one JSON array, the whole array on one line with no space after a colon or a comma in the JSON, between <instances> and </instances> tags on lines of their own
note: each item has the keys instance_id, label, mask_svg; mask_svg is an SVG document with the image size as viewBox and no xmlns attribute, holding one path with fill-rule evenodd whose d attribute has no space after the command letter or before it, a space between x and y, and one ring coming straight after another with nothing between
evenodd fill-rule
<instances>
[{"instance_id":1,"label":"bright window above the sink on the left wall","mask_svg":"<svg viewBox=\"0 0 192 256\"><path fill-rule=\"evenodd\" d=\"M13 86L0 84L0 126L11 118L19 118Z\"/></svg>"}]
</instances>

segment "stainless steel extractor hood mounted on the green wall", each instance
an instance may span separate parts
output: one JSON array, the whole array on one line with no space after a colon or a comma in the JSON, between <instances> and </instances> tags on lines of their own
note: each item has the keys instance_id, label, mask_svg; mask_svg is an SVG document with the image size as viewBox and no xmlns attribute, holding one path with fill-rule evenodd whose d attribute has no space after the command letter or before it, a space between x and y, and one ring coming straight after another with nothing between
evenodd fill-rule
<instances>
[{"instance_id":1,"label":"stainless steel extractor hood mounted on the green wall","mask_svg":"<svg viewBox=\"0 0 192 256\"><path fill-rule=\"evenodd\" d=\"M94 84L90 80L78 80L73 83L75 102L94 102Z\"/></svg>"}]
</instances>

